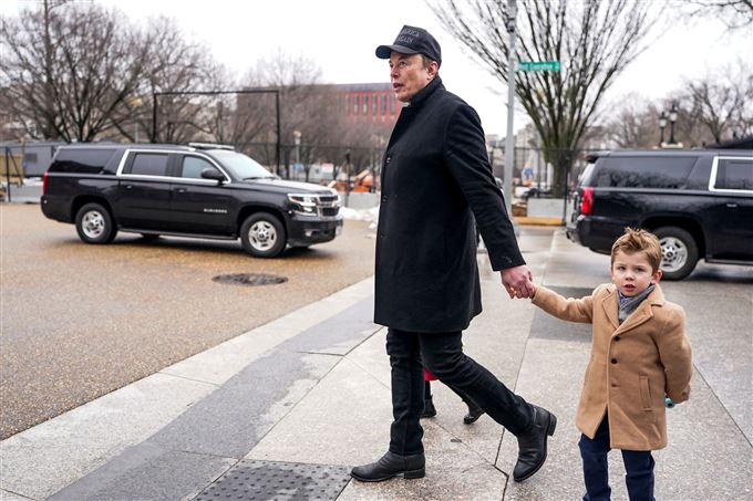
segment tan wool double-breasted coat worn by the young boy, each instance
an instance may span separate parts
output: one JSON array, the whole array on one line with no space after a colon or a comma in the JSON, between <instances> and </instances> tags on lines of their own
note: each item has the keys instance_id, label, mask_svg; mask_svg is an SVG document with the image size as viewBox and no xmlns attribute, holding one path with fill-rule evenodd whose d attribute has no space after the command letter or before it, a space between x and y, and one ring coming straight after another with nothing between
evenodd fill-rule
<instances>
[{"instance_id":1,"label":"tan wool double-breasted coat worn by the young boy","mask_svg":"<svg viewBox=\"0 0 753 501\"><path fill-rule=\"evenodd\" d=\"M611 283L582 299L536 286L533 302L558 319L592 324L578 429L592 439L609 411L612 449L666 447L664 394L675 403L687 400L693 373L684 310L666 301L659 284L621 325Z\"/></svg>"}]
</instances>

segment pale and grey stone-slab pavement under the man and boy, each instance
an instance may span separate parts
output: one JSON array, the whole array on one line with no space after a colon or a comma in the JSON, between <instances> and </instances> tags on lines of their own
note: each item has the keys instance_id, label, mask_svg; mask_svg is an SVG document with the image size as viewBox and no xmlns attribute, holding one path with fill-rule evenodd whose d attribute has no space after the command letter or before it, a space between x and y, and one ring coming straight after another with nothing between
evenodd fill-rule
<instances>
[{"instance_id":1,"label":"pale and grey stone-slab pavement under the man and boy","mask_svg":"<svg viewBox=\"0 0 753 501\"><path fill-rule=\"evenodd\" d=\"M609 258L561 229L523 227L520 247L536 280L563 293L609 280ZM385 451L391 420L369 279L2 441L0 499L580 499L573 421L589 328L507 299L485 254L479 264L485 310L466 352L558 416L548 461L524 483L509 478L515 438L487 416L463 425L464 404L440 383L439 415L422 421L426 478L350 480ZM753 499L750 283L733 281L716 302L713 283L666 288L689 312L697 372L656 453L657 499ZM709 302L713 313L699 315ZM627 499L618 453L610 467L613 499Z\"/></svg>"}]
</instances>

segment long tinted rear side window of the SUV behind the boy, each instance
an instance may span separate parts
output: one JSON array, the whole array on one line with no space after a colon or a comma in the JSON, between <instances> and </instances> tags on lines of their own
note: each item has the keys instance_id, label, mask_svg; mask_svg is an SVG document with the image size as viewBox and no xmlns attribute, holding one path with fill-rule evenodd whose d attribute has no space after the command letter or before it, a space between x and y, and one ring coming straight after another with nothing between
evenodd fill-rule
<instances>
[{"instance_id":1,"label":"long tinted rear side window of the SUV behind the boy","mask_svg":"<svg viewBox=\"0 0 753 501\"><path fill-rule=\"evenodd\" d=\"M591 186L601 188L682 188L697 157L604 157Z\"/></svg>"}]
</instances>

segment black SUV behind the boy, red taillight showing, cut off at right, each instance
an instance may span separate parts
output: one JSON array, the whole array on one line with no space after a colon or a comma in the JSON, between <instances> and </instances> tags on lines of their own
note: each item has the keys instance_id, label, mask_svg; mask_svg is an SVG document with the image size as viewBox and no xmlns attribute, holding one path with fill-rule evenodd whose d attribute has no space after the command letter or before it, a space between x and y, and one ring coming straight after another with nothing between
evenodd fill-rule
<instances>
[{"instance_id":1,"label":"black SUV behind the boy, red taillight showing, cut off at right","mask_svg":"<svg viewBox=\"0 0 753 501\"><path fill-rule=\"evenodd\" d=\"M626 227L650 230L669 280L688 276L699 259L753 263L753 150L623 150L589 160L570 240L609 253Z\"/></svg>"}]
</instances>

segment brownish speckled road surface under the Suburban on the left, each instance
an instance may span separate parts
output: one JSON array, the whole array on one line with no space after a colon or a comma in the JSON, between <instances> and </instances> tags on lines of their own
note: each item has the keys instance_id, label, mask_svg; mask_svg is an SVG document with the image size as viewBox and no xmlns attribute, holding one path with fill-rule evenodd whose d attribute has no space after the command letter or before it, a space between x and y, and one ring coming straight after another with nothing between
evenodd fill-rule
<instances>
[{"instance_id":1,"label":"brownish speckled road surface under the Suburban on the left","mask_svg":"<svg viewBox=\"0 0 753 501\"><path fill-rule=\"evenodd\" d=\"M87 246L38 205L0 205L0 438L369 276L371 233L345 221L332 242L260 260L227 241ZM213 281L233 273L288 282Z\"/></svg>"}]
</instances>

